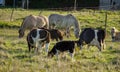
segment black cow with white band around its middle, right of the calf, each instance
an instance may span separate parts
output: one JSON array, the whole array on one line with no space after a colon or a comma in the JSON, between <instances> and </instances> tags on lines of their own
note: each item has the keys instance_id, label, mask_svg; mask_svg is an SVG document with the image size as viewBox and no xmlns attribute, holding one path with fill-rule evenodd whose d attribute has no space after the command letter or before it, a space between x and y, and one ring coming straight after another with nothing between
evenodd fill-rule
<instances>
[{"instance_id":1,"label":"black cow with white band around its middle, right of the calf","mask_svg":"<svg viewBox=\"0 0 120 72\"><path fill-rule=\"evenodd\" d=\"M92 29L92 28L85 28L81 34L79 39L79 46L82 49L84 44L88 44L89 46L97 46L99 51L101 51L102 47L104 49L104 39L105 39L105 30L102 29Z\"/></svg>"}]
</instances>

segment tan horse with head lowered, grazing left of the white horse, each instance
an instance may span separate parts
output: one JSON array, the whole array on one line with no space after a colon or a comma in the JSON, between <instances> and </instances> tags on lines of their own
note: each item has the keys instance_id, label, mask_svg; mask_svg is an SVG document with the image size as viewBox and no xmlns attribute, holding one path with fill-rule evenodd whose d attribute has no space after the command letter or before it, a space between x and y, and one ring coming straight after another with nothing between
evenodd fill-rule
<instances>
[{"instance_id":1,"label":"tan horse with head lowered, grazing left of the white horse","mask_svg":"<svg viewBox=\"0 0 120 72\"><path fill-rule=\"evenodd\" d=\"M34 28L38 27L45 27L49 28L49 22L48 18L46 16L35 16L35 15L29 15L25 17L23 20L21 27L19 28L19 38L22 38L24 36L25 30L29 29L32 30Z\"/></svg>"}]
</instances>

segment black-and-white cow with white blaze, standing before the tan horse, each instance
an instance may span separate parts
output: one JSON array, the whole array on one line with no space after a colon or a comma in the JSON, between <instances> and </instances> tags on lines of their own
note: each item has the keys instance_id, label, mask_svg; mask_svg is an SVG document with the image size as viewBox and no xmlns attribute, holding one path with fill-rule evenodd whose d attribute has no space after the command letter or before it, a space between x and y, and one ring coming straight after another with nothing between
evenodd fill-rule
<instances>
[{"instance_id":1,"label":"black-and-white cow with white blaze, standing before the tan horse","mask_svg":"<svg viewBox=\"0 0 120 72\"><path fill-rule=\"evenodd\" d=\"M50 33L44 29L33 29L27 35L27 43L29 52L31 48L35 48L35 53L38 52L38 49L42 46L46 46L46 52L48 52L49 44L50 44Z\"/></svg>"}]
</instances>

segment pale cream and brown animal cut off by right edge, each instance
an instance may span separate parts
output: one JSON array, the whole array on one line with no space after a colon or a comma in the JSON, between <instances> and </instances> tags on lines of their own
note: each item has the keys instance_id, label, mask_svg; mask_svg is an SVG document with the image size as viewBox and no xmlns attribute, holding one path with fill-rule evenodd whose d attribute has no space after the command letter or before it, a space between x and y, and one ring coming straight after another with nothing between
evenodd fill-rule
<instances>
[{"instance_id":1,"label":"pale cream and brown animal cut off by right edge","mask_svg":"<svg viewBox=\"0 0 120 72\"><path fill-rule=\"evenodd\" d=\"M120 41L120 31L118 31L115 27L112 27L111 37L112 41Z\"/></svg>"}]
</instances>

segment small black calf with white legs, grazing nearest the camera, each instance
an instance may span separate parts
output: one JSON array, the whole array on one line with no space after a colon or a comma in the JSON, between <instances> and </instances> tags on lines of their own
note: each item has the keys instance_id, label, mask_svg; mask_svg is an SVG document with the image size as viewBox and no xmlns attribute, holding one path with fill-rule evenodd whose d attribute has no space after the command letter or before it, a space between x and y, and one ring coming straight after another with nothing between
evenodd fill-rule
<instances>
[{"instance_id":1,"label":"small black calf with white legs, grazing nearest the camera","mask_svg":"<svg viewBox=\"0 0 120 72\"><path fill-rule=\"evenodd\" d=\"M75 43L78 41L60 41L57 42L52 50L48 52L48 57L53 57L54 55L58 58L58 52L69 51L71 58L74 56Z\"/></svg>"}]
</instances>

